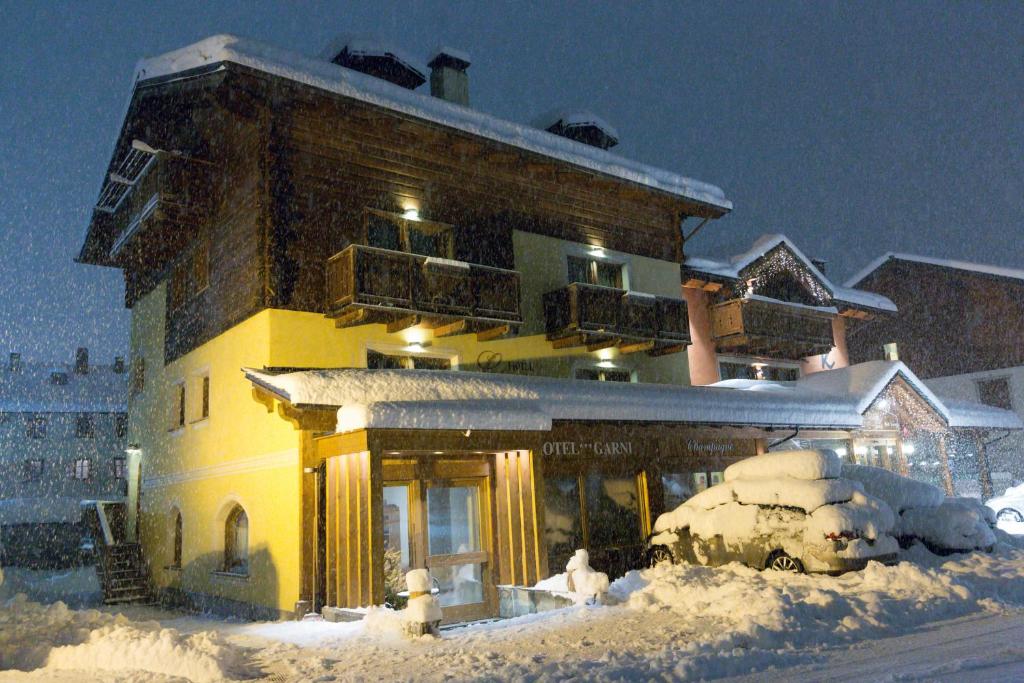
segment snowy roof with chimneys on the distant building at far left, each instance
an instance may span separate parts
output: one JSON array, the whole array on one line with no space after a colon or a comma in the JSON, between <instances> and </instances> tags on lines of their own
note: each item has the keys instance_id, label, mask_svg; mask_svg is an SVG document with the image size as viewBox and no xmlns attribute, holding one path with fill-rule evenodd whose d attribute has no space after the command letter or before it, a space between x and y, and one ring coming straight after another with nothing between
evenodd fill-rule
<instances>
[{"instance_id":1,"label":"snowy roof with chimneys on the distant building at far left","mask_svg":"<svg viewBox=\"0 0 1024 683\"><path fill-rule=\"evenodd\" d=\"M0 412L124 413L128 410L128 373L112 366L90 366L79 375L74 366L23 362L17 371L0 370ZM67 383L55 384L61 373Z\"/></svg>"}]
</instances>

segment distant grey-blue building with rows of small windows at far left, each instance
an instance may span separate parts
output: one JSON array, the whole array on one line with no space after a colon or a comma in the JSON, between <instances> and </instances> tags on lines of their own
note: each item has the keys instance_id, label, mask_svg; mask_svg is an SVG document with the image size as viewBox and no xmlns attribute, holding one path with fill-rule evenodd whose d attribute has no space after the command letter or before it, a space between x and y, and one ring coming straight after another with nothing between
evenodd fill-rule
<instances>
[{"instance_id":1,"label":"distant grey-blue building with rows of small windows at far left","mask_svg":"<svg viewBox=\"0 0 1024 683\"><path fill-rule=\"evenodd\" d=\"M83 503L123 502L128 429L124 358L0 367L0 564L67 566L80 557Z\"/></svg>"}]
</instances>

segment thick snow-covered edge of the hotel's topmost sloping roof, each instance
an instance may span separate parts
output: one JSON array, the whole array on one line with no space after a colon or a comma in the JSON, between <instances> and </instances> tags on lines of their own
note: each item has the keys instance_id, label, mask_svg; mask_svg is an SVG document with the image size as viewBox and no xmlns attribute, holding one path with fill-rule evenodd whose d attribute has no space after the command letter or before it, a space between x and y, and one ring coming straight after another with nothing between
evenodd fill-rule
<instances>
[{"instance_id":1,"label":"thick snow-covered edge of the hotel's topmost sloping roof","mask_svg":"<svg viewBox=\"0 0 1024 683\"><path fill-rule=\"evenodd\" d=\"M211 36L187 47L142 59L136 67L135 82L138 84L158 78L172 78L194 70L216 68L224 62L248 67L591 171L647 185L715 207L722 212L732 209L732 202L725 198L722 189L710 183L646 166L531 126L413 92L326 59L310 58L247 38Z\"/></svg>"}]
</instances>

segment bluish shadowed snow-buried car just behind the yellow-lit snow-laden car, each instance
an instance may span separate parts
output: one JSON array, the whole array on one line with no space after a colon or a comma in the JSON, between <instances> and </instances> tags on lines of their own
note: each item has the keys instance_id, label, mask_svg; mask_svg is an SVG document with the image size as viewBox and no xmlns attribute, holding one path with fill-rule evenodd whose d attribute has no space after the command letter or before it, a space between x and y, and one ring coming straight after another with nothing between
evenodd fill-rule
<instances>
[{"instance_id":1,"label":"bluish shadowed snow-buried car just behind the yellow-lit snow-laden car","mask_svg":"<svg viewBox=\"0 0 1024 683\"><path fill-rule=\"evenodd\" d=\"M995 515L974 498L946 498L942 489L867 465L843 465L843 477L889 504L896 513L893 536L906 547L921 541L934 553L990 551Z\"/></svg>"}]
</instances>

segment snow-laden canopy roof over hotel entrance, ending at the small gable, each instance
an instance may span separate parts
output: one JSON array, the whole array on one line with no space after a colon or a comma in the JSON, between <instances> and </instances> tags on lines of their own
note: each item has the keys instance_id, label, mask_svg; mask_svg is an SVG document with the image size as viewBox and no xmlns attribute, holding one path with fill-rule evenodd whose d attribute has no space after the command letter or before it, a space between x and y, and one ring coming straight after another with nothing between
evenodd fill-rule
<instances>
[{"instance_id":1,"label":"snow-laden canopy roof over hotel entrance, ending at the small gable","mask_svg":"<svg viewBox=\"0 0 1024 683\"><path fill-rule=\"evenodd\" d=\"M247 368L243 372L254 384L293 404L340 409L339 427L346 431L535 430L554 420L837 428L861 424L849 401L826 400L820 394L767 395L714 387L446 371L274 373ZM508 419L500 415L505 411Z\"/></svg>"}]
</instances>

